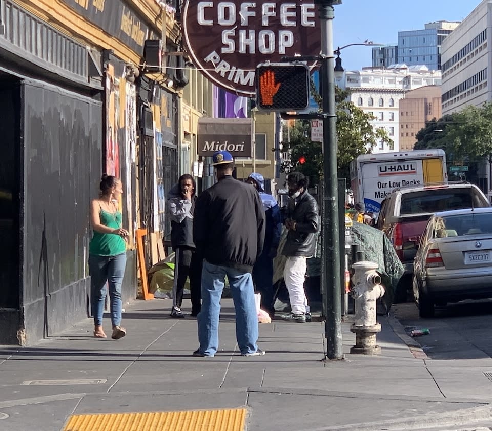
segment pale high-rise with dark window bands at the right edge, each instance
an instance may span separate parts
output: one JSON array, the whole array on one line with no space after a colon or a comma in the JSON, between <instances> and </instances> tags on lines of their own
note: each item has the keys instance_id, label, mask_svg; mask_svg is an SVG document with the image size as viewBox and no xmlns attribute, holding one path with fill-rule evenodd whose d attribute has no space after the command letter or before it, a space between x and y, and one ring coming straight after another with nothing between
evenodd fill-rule
<instances>
[{"instance_id":1,"label":"pale high-rise with dark window bands at the right edge","mask_svg":"<svg viewBox=\"0 0 492 431\"><path fill-rule=\"evenodd\" d=\"M442 115L492 100L492 0L483 0L442 43Z\"/></svg>"}]
</instances>

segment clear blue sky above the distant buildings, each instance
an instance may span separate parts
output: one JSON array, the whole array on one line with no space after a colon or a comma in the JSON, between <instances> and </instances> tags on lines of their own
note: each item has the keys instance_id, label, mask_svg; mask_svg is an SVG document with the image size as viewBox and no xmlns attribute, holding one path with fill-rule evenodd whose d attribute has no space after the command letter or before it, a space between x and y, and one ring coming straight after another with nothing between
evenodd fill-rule
<instances>
[{"instance_id":1,"label":"clear blue sky above the distant buildings","mask_svg":"<svg viewBox=\"0 0 492 431\"><path fill-rule=\"evenodd\" d=\"M423 29L433 21L461 21L480 0L343 0L335 6L333 46L364 40L397 44L398 32ZM341 51L345 70L371 66L371 47L353 46Z\"/></svg>"}]
</instances>

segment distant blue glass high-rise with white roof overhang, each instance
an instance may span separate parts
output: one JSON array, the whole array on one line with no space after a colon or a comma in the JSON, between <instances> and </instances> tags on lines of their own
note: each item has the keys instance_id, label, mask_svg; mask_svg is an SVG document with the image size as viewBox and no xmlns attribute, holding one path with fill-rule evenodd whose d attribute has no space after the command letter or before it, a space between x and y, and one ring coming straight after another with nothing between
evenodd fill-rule
<instances>
[{"instance_id":1,"label":"distant blue glass high-rise with white roof overhang","mask_svg":"<svg viewBox=\"0 0 492 431\"><path fill-rule=\"evenodd\" d=\"M398 32L398 60L408 66L425 65L441 70L441 45L459 22L437 21L423 30Z\"/></svg>"}]
</instances>

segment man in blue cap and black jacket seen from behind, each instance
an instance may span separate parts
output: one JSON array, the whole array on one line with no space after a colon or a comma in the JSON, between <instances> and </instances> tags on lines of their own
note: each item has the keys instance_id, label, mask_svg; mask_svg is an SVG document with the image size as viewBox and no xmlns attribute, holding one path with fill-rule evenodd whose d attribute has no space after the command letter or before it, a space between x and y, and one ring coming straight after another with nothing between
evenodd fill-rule
<instances>
[{"instance_id":1,"label":"man in blue cap and black jacket seen from behind","mask_svg":"<svg viewBox=\"0 0 492 431\"><path fill-rule=\"evenodd\" d=\"M218 182L196 201L193 240L203 256L202 306L198 314L200 347L193 356L213 357L219 346L220 298L229 280L236 310L236 339L242 356L260 356L251 272L263 249L265 212L256 191L232 177L234 158L212 156Z\"/></svg>"}]
</instances>

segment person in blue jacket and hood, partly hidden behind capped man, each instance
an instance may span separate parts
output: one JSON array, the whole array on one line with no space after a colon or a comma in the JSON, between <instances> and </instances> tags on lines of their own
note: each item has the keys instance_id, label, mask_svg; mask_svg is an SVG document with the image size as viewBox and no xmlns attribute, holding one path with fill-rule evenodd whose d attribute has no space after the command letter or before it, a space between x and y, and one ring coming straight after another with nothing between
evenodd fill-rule
<instances>
[{"instance_id":1,"label":"person in blue jacket and hood, partly hidden behind capped man","mask_svg":"<svg viewBox=\"0 0 492 431\"><path fill-rule=\"evenodd\" d=\"M253 172L246 182L252 184L258 191L266 215L265 242L263 252L253 266L253 282L256 291L261 294L261 308L273 317L275 315L273 304L273 259L277 256L278 243L282 234L280 208L275 197L265 193L263 175Z\"/></svg>"}]
</instances>

